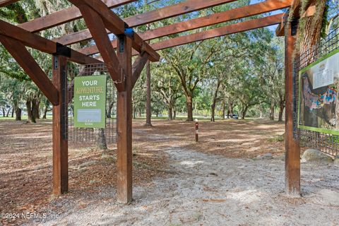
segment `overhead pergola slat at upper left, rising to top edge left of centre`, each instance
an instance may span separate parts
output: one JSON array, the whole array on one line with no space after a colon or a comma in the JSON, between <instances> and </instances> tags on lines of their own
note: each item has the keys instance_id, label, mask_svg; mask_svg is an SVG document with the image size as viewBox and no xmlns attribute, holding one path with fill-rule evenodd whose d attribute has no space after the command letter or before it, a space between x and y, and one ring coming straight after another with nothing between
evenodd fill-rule
<instances>
[{"instance_id":1,"label":"overhead pergola slat at upper left, rising to top edge left of centre","mask_svg":"<svg viewBox=\"0 0 339 226\"><path fill-rule=\"evenodd\" d=\"M114 8L122 6L124 4L129 4L136 0L104 0L105 4L109 8ZM72 6L70 8L62 9L55 13L48 14L47 16L42 16L34 20L30 20L26 23L21 23L18 27L28 30L30 32L39 32L46 30L48 28L53 28L57 25L67 23L73 20L82 18L81 12L78 7Z\"/></svg>"}]
</instances>

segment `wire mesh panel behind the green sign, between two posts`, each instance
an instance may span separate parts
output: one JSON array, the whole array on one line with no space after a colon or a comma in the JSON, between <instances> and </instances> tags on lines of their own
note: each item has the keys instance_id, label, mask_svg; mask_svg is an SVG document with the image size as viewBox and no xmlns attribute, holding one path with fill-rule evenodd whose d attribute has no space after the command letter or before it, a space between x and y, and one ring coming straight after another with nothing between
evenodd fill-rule
<instances>
[{"instance_id":1,"label":"wire mesh panel behind the green sign, between two posts","mask_svg":"<svg viewBox=\"0 0 339 226\"><path fill-rule=\"evenodd\" d=\"M107 76L107 100L106 100L106 128L93 129L93 128L76 128L74 127L74 112L73 112L73 94L74 83L73 79L76 76ZM65 89L68 90L69 105L65 106L66 120L68 123L65 126L68 129L64 130L64 136L69 141L80 143L102 143L106 144L115 143L117 138L117 90L114 81L109 76L105 64L88 64L88 65L69 65L67 69L68 84L66 83ZM117 83L117 82L115 82Z\"/></svg>"}]
</instances>

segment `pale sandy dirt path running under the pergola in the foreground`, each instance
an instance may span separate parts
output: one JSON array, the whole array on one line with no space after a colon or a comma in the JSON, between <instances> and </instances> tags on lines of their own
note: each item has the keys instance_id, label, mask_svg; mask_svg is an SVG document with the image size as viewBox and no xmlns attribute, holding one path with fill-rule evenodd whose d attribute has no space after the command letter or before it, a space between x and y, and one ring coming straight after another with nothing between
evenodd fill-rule
<instances>
[{"instance_id":1,"label":"pale sandy dirt path running under the pergola in the foreground","mask_svg":"<svg viewBox=\"0 0 339 226\"><path fill-rule=\"evenodd\" d=\"M339 225L339 167L302 163L302 198L284 194L284 161L165 150L171 177L133 189L128 206L71 208L44 225ZM34 224L34 223L32 223Z\"/></svg>"}]
</instances>

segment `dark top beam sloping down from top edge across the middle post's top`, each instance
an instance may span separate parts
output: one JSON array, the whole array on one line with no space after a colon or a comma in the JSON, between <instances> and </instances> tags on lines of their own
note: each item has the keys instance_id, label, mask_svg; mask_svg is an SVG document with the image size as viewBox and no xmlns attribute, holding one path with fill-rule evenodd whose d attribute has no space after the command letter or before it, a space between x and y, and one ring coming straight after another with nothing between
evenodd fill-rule
<instances>
[{"instance_id":1,"label":"dark top beam sloping down from top edge across the middle post's top","mask_svg":"<svg viewBox=\"0 0 339 226\"><path fill-rule=\"evenodd\" d=\"M119 16L113 13L102 1L91 1L91 0L69 0L80 10L83 12L84 5L96 11L98 16L102 18L103 23L105 23L105 27L114 33L114 35L124 35L125 28L128 26L124 23L124 20L121 20ZM84 15L83 15L84 16ZM86 20L86 24L93 23L94 21ZM93 27L92 27L93 29ZM93 35L93 31L91 31L91 35ZM107 33L104 29L103 32ZM129 36L132 40L132 47L136 49L138 52L147 52L150 55L151 61L159 61L160 56L155 52L152 48L150 48L149 44L144 42L141 37L137 33L134 33L132 36Z\"/></svg>"}]
</instances>

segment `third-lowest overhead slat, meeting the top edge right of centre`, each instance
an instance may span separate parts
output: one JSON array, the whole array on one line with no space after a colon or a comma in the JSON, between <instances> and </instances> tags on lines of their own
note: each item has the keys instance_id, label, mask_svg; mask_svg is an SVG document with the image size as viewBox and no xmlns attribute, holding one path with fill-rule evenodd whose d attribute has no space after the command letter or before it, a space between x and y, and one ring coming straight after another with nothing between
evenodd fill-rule
<instances>
[{"instance_id":1,"label":"third-lowest overhead slat, meeting the top edge right of centre","mask_svg":"<svg viewBox=\"0 0 339 226\"><path fill-rule=\"evenodd\" d=\"M184 13L191 13L193 11L198 11L204 8L218 6L221 4L230 3L237 0L188 0L180 4L173 6L167 6L164 8L156 9L155 11L150 11L148 13L142 13L140 15L131 16L125 18L124 22L129 25L130 28L134 28L139 25L144 25L146 23L153 23L158 20L163 20L165 18L171 18L173 16L179 16ZM76 42L81 42L83 40L89 40L91 38L89 30L81 30L69 35L64 35L62 37L56 38L56 42L61 44L73 44Z\"/></svg>"}]
</instances>

